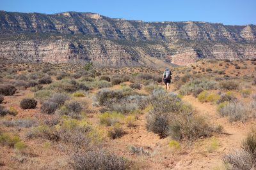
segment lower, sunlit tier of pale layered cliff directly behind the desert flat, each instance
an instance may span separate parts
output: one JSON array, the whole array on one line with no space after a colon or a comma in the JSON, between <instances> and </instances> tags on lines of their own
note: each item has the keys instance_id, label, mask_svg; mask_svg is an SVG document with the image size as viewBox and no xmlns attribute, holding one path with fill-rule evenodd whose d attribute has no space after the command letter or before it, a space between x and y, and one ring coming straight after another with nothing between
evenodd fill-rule
<instances>
[{"instance_id":1,"label":"lower, sunlit tier of pale layered cliff directly behind the desert flat","mask_svg":"<svg viewBox=\"0 0 256 170\"><path fill-rule=\"evenodd\" d=\"M186 65L198 59L252 59L256 45L216 41L159 43L116 41L63 34L19 34L0 36L0 57L31 62L68 62L95 66Z\"/></svg>"}]
</instances>

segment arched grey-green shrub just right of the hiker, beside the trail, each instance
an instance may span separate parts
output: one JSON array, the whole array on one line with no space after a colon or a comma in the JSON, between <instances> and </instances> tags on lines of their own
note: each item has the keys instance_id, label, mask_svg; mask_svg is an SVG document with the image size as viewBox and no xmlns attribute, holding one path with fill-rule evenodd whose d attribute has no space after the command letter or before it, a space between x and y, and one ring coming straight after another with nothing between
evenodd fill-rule
<instances>
[{"instance_id":1,"label":"arched grey-green shrub just right of the hiker, beside the trail","mask_svg":"<svg viewBox=\"0 0 256 170\"><path fill-rule=\"evenodd\" d=\"M179 93L182 95L187 95L193 92L195 89L202 88L204 90L216 89L218 83L216 81L207 79L196 79L191 80L182 87L180 87Z\"/></svg>"}]
</instances>

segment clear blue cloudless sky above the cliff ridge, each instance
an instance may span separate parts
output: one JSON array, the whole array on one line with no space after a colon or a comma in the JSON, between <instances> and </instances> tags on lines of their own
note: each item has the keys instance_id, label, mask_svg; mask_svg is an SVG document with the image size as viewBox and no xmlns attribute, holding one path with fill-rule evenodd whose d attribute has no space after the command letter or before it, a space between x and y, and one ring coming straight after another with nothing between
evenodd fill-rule
<instances>
[{"instance_id":1,"label":"clear blue cloudless sky above the cliff ridge","mask_svg":"<svg viewBox=\"0 0 256 170\"><path fill-rule=\"evenodd\" d=\"M38 13L93 12L143 21L256 24L256 0L0 0L0 10Z\"/></svg>"}]
</instances>

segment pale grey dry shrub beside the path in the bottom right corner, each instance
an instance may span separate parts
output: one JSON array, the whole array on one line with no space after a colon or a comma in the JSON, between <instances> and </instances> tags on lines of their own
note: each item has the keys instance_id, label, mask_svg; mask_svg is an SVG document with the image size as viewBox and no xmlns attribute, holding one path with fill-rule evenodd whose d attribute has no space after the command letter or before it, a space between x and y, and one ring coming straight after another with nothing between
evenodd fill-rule
<instances>
[{"instance_id":1,"label":"pale grey dry shrub beside the path in the bottom right corner","mask_svg":"<svg viewBox=\"0 0 256 170\"><path fill-rule=\"evenodd\" d=\"M222 160L228 170L250 170L255 167L255 159L245 150L236 150L235 153L225 155Z\"/></svg>"}]
</instances>

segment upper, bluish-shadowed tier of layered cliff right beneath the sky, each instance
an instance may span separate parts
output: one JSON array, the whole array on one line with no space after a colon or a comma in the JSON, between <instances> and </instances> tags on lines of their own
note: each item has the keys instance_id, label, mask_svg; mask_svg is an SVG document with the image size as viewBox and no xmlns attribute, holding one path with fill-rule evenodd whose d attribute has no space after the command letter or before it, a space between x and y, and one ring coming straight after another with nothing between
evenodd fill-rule
<instances>
[{"instance_id":1,"label":"upper, bluish-shadowed tier of layered cliff right beneath the sky","mask_svg":"<svg viewBox=\"0 0 256 170\"><path fill-rule=\"evenodd\" d=\"M256 42L256 25L207 22L142 22L104 17L96 13L13 13L0 11L0 32L60 32L125 40L176 39Z\"/></svg>"}]
</instances>

